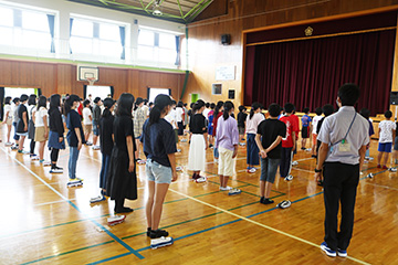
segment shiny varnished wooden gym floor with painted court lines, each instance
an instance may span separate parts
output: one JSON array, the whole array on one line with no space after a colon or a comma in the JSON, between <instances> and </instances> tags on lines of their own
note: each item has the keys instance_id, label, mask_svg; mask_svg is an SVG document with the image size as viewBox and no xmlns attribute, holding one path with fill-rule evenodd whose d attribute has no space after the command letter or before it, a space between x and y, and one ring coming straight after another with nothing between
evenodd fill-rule
<instances>
[{"instance_id":1,"label":"shiny varnished wooden gym floor with painted court lines","mask_svg":"<svg viewBox=\"0 0 398 265\"><path fill-rule=\"evenodd\" d=\"M373 157L376 146L373 142ZM177 161L186 166L188 144L180 147ZM160 225L175 244L150 250L145 235L145 166L138 166L139 199L126 203L135 211L109 227L106 218L113 214L114 202L88 202L98 194L100 151L83 147L77 177L84 187L69 189L66 170L50 174L49 168L1 144L0 264L398 264L397 173L377 169L375 162L365 166L349 257L331 258L318 247L324 236L323 192L313 181L315 159L308 152L295 156L293 181L276 178L274 201L293 202L280 210L259 203L260 171L245 172L244 147L229 183L242 193L229 197L219 191L211 151L207 151L208 182L190 181L185 168L167 193ZM69 151L62 151L64 169L67 159ZM366 179L370 172L379 174Z\"/></svg>"}]
</instances>

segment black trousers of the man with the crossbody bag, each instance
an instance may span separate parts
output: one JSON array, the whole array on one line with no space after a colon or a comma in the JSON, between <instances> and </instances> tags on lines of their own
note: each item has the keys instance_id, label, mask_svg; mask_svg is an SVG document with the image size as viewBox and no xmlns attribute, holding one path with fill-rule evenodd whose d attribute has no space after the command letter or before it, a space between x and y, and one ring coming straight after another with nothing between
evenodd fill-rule
<instances>
[{"instance_id":1,"label":"black trousers of the man with the crossbody bag","mask_svg":"<svg viewBox=\"0 0 398 265\"><path fill-rule=\"evenodd\" d=\"M359 165L326 162L324 166L325 242L334 251L347 250L353 236L354 208L359 182ZM342 222L337 232L337 214Z\"/></svg>"}]
</instances>

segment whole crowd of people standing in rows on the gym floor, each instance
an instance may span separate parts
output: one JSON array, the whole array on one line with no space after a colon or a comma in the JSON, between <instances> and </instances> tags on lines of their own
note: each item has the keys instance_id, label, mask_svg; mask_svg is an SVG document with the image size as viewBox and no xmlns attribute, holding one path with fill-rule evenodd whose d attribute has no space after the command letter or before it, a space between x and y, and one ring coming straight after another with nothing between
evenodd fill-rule
<instances>
[{"instance_id":1,"label":"whole crowd of people standing in rows on the gym floor","mask_svg":"<svg viewBox=\"0 0 398 265\"><path fill-rule=\"evenodd\" d=\"M316 108L316 115L312 118L310 109L304 108L300 129L300 118L292 103L284 104L283 108L273 103L268 112L264 112L262 104L253 103L249 113L244 106L239 106L239 113L235 113L230 100L214 104L199 99L188 109L187 104L167 95L158 95L154 103L135 98L128 93L122 94L117 102L112 97L92 99L91 95L86 99L77 95L64 98L57 94L49 98L21 95L19 98L6 97L4 100L3 123L8 126L6 146L19 153L29 153L40 165L50 166L50 173L62 173L57 158L60 150L66 147L66 139L70 151L69 183L83 183L83 179L76 176L82 146L101 150L101 194L92 198L91 202L97 203L109 197L115 201L114 212L117 214L133 212L133 209L124 205L125 199L137 199L136 163L146 165L147 235L158 240L156 244L161 245L172 241L167 231L159 229L159 223L169 184L177 180L177 171L182 170L176 165L176 153L181 151L179 142L189 142L187 169L192 172L191 178L196 182L207 181L201 174L206 170L206 150L213 149L213 161L218 163L220 179L219 190L228 191L229 195L241 193L240 189L228 186L228 181L234 174L239 146L245 146L247 172L256 172L261 165L260 203L272 204L274 201L270 193L277 169L285 181L293 180L293 156L297 152L301 132L301 149L311 151L312 157L317 159L315 177L325 191L325 242L322 247L327 255L336 256L337 252L344 256L353 226L359 169L365 157L370 159L369 137L374 134L370 112L362 109L358 116L353 107L358 97L357 86L342 86L337 97L338 112L335 113L333 105L327 104ZM388 155L391 152L396 130L391 116L390 112L386 112L386 120L379 125L378 167L387 168ZM339 118L347 120L338 124ZM342 129L336 129L338 126ZM356 137L353 137L354 127ZM31 140L29 151L23 149L27 137ZM311 148L306 147L308 138ZM35 155L35 142L39 142L39 155ZM395 142L394 149L398 150L398 140ZM44 159L45 145L50 149L49 161ZM140 149L144 153L140 153ZM348 166L345 159L339 159L342 153L352 156ZM336 180L336 170L345 169L346 179ZM347 179L349 188L345 189ZM347 205L347 211L343 211L344 231L337 233L336 203L341 199L342 208ZM349 218L345 218L347 215Z\"/></svg>"}]
</instances>

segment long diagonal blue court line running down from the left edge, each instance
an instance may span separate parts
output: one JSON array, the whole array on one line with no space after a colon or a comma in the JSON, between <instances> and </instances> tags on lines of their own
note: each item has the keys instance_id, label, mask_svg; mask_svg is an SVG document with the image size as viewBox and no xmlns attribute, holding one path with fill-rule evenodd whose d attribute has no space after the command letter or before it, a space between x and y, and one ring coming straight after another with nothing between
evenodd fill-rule
<instances>
[{"instance_id":1,"label":"long diagonal blue court line running down from the left edge","mask_svg":"<svg viewBox=\"0 0 398 265\"><path fill-rule=\"evenodd\" d=\"M9 157L11 157L6 150L4 148L1 148L6 155L8 155ZM12 158L12 157L11 157ZM40 178L36 173L34 173L31 169L29 169L25 165L23 165L21 161L19 161L15 158L12 158L15 162L18 162L19 165L21 165L28 172L30 172L33 177L35 177L39 181L41 181L44 186L46 186L50 190L52 190L55 194L57 194L61 199L63 199L64 201L66 201L72 208L74 208L77 212L84 214L76 204L74 204L72 201L70 201L66 197L64 197L61 192L59 192L57 190L55 190L53 187L51 187L48 182L45 182L42 178ZM112 239L114 239L117 243L119 243L121 245L123 245L126 250L128 250L129 252L132 252L134 255L136 255L138 258L143 259L145 258L143 255L140 255L138 252L136 252L133 247L130 247L129 245L127 245L125 242L123 242L119 237L117 237L116 235L114 235L111 231L108 231L107 229L104 227L104 225L100 224L97 221L95 221L94 219L90 219L88 220L91 222L93 222L96 226L101 227L106 234L108 234Z\"/></svg>"}]
</instances>

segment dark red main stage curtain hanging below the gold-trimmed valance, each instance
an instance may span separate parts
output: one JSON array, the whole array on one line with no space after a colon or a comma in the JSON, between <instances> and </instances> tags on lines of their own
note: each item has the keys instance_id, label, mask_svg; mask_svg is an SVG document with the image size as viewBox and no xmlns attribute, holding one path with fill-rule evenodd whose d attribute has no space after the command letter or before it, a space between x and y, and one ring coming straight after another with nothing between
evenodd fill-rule
<instances>
[{"instance_id":1,"label":"dark red main stage curtain hanging below the gold-trimmed valance","mask_svg":"<svg viewBox=\"0 0 398 265\"><path fill-rule=\"evenodd\" d=\"M384 113L389 107L395 35L388 30L256 45L255 52L248 47L244 104L291 102L297 110L314 112L335 104L341 85L355 83L362 92L357 108Z\"/></svg>"}]
</instances>

